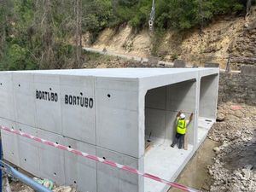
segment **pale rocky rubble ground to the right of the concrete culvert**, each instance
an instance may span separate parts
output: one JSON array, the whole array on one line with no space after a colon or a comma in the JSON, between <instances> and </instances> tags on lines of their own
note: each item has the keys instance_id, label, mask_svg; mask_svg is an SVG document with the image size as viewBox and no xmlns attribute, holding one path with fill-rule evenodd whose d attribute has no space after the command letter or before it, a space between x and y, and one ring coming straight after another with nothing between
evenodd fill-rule
<instances>
[{"instance_id":1,"label":"pale rocky rubble ground to the right of the concrete culvert","mask_svg":"<svg viewBox=\"0 0 256 192\"><path fill-rule=\"evenodd\" d=\"M208 172L211 192L253 192L256 189L256 107L224 103L209 138L221 143Z\"/></svg>"}]
</instances>

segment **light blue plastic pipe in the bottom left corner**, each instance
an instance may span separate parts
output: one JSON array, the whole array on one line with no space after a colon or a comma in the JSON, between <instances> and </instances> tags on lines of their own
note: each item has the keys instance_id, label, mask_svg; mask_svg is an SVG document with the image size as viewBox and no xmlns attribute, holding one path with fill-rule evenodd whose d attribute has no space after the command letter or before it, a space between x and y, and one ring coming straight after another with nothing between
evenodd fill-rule
<instances>
[{"instance_id":1,"label":"light blue plastic pipe in the bottom left corner","mask_svg":"<svg viewBox=\"0 0 256 192\"><path fill-rule=\"evenodd\" d=\"M32 178L27 177L26 175L22 174L21 172L18 172L13 168L12 166L9 166L8 164L4 163L3 160L0 160L1 166L3 166L3 171L7 172L9 175L17 178L20 180L20 182L25 183L26 185L30 186L32 189L38 191L38 192L51 192L50 189L44 187L44 185L41 185Z\"/></svg>"}]
</instances>

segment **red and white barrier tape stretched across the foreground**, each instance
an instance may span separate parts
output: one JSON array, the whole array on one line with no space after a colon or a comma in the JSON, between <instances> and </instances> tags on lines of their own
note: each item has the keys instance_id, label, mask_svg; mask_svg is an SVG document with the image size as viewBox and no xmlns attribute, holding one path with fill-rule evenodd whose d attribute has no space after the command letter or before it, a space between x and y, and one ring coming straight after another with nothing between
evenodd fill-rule
<instances>
[{"instance_id":1,"label":"red and white barrier tape stretched across the foreground","mask_svg":"<svg viewBox=\"0 0 256 192\"><path fill-rule=\"evenodd\" d=\"M53 143L53 142L50 142L48 140L45 140L45 139L42 139L42 138L39 138L39 137L34 137L34 136L29 135L29 134L27 134L25 132L22 132L22 131L16 131L14 129L9 129L8 127L2 126L2 125L0 125L0 129L2 129L4 131L9 131L9 132L15 133L15 134L20 135L22 137L26 137L26 138L32 139L32 140L34 140L34 141L36 141L38 143L44 143L44 144L47 144L47 145L52 146L54 148L60 148L60 149L65 150L65 151L69 151L69 152L71 152L73 154L77 154L77 155L85 157L87 159L95 160L97 162L101 162L101 163L106 164L108 166L117 167L120 170L124 170L125 172L131 172L131 173L143 176L143 177L147 177L149 179L152 179L152 180L160 182L160 183L165 183L166 185L169 185L169 186L171 186L173 188L182 189L183 191L188 191L188 192L200 192L197 189L192 189L192 188L186 187L186 186L184 186L182 184L179 184L179 183L170 182L170 181L167 181L165 179L162 179L160 177L156 177L156 176L148 174L148 173L139 172L137 169L134 169L134 168L132 168L130 166L123 166L123 165L115 163L115 162L113 162L111 160L104 160L104 159L102 159L100 157L97 157L95 155L86 154L86 153L81 152L79 150L76 150L74 148L68 148L68 147L66 147L64 145L61 145L61 144Z\"/></svg>"}]
</instances>

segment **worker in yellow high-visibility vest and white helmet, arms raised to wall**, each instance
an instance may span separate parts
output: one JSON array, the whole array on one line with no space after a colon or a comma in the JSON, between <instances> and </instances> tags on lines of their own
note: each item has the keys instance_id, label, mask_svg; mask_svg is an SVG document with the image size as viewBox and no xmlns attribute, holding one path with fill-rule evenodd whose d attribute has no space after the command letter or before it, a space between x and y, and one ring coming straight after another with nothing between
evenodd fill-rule
<instances>
[{"instance_id":1,"label":"worker in yellow high-visibility vest and white helmet, arms raised to wall","mask_svg":"<svg viewBox=\"0 0 256 192\"><path fill-rule=\"evenodd\" d=\"M193 118L193 113L190 114L189 120L186 120L186 116L184 113L178 112L177 113L177 129L176 129L176 136L172 142L171 147L178 143L178 148L184 148L184 137L187 131L187 126L190 124Z\"/></svg>"}]
</instances>

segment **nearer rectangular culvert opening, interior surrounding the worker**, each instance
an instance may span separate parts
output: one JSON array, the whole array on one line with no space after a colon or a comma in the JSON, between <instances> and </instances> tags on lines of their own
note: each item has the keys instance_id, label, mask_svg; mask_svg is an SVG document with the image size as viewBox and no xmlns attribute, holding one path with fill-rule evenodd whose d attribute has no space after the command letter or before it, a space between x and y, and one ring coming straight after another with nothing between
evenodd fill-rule
<instances>
[{"instance_id":1,"label":"nearer rectangular culvert opening, interior surrounding the worker","mask_svg":"<svg viewBox=\"0 0 256 192\"><path fill-rule=\"evenodd\" d=\"M195 113L195 79L148 90L145 96L145 172L173 180L193 151L194 120L187 126L188 150L172 148L177 130L177 113L182 111L189 119ZM162 191L163 186L144 180L144 191Z\"/></svg>"}]
</instances>

